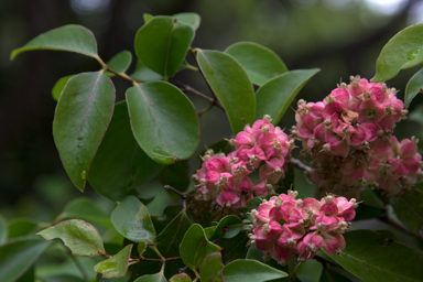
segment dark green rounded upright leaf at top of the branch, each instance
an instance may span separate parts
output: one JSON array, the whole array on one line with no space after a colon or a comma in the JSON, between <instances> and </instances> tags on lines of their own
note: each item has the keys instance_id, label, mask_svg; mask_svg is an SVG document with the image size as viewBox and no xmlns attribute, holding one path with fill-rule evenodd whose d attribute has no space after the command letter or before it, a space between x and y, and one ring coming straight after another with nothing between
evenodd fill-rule
<instances>
[{"instance_id":1,"label":"dark green rounded upright leaf at top of the branch","mask_svg":"<svg viewBox=\"0 0 423 282\"><path fill-rule=\"evenodd\" d=\"M154 17L135 35L138 58L165 79L184 62L194 39L193 29L171 17Z\"/></svg>"}]
</instances>

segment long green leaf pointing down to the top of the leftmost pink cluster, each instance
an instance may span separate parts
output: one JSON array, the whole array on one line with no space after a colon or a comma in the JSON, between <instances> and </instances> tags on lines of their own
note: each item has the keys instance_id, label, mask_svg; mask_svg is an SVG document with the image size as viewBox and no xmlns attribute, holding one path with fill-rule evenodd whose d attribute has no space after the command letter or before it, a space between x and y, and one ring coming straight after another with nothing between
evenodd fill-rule
<instances>
[{"instance_id":1,"label":"long green leaf pointing down to the top of the leftmost pink cluster","mask_svg":"<svg viewBox=\"0 0 423 282\"><path fill-rule=\"evenodd\" d=\"M242 120L252 123L256 111L254 90L246 70L223 52L197 50L196 57L204 77L228 115L234 133L243 130Z\"/></svg>"}]
</instances>

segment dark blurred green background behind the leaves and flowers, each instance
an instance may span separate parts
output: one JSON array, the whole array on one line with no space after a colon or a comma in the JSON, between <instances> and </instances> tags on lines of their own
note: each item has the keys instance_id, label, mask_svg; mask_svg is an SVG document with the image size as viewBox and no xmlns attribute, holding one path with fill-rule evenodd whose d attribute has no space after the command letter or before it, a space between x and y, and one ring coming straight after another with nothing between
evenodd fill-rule
<instances>
[{"instance_id":1,"label":"dark blurred green background behind the leaves and flowers","mask_svg":"<svg viewBox=\"0 0 423 282\"><path fill-rule=\"evenodd\" d=\"M1 0L0 7L0 213L9 220L31 217L52 221L66 203L82 196L67 178L54 147L56 102L51 89L58 78L97 70L99 65L82 55L51 51L29 52L9 61L13 48L40 33L83 24L95 33L99 54L107 61L122 50L133 54L133 37L143 24L143 13L196 12L202 24L194 47L223 51L235 42L252 41L276 52L289 69L321 67L299 95L316 101L340 80L348 83L350 75L371 78L378 53L388 40L423 21L423 1L416 0ZM403 70L388 84L403 97L415 72ZM174 79L209 95L197 73L184 70ZM123 99L130 85L118 78L113 83L118 100ZM206 106L191 98L198 109ZM416 98L414 107L421 101ZM290 128L293 117L290 110L281 127ZM204 144L231 134L219 109L200 121L199 151ZM400 138L421 132L420 123L400 124ZM191 170L196 165L192 162ZM112 205L90 187L85 196L97 198L105 208Z\"/></svg>"}]
</instances>

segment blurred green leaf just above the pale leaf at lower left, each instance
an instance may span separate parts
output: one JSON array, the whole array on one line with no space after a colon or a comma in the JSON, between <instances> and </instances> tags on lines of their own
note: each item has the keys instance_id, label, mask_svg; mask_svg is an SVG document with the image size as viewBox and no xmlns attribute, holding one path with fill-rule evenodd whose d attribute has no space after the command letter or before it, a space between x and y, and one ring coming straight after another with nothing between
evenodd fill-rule
<instances>
[{"instance_id":1,"label":"blurred green leaf just above the pale leaf at lower left","mask_svg":"<svg viewBox=\"0 0 423 282\"><path fill-rule=\"evenodd\" d=\"M68 203L63 209L61 217L64 219L83 219L88 223L112 227L109 216L96 203L86 197L75 198Z\"/></svg>"}]
</instances>

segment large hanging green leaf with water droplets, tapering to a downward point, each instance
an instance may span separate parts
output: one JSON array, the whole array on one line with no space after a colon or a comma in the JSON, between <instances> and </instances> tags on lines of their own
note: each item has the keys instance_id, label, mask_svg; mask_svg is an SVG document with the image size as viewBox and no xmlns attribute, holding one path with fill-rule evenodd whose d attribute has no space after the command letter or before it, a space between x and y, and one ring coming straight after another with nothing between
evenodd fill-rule
<instances>
[{"instance_id":1,"label":"large hanging green leaf with water droplets, tapering to a downward point","mask_svg":"<svg viewBox=\"0 0 423 282\"><path fill-rule=\"evenodd\" d=\"M58 99L53 137L63 166L80 191L109 126L115 86L101 72L73 76Z\"/></svg>"}]
</instances>

